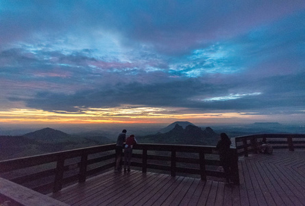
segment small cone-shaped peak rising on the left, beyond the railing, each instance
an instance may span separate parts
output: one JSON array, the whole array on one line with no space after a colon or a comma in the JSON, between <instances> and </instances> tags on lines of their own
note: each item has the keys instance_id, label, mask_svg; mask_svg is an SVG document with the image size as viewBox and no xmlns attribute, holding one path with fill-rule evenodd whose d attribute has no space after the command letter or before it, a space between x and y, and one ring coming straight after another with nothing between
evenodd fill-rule
<instances>
[{"instance_id":1,"label":"small cone-shaped peak rising on the left, beyond the railing","mask_svg":"<svg viewBox=\"0 0 305 206\"><path fill-rule=\"evenodd\" d=\"M43 128L41 130L36 130L32 133L27 133L23 135L24 137L27 137L29 139L42 139L42 140L63 140L63 139L69 139L71 135L68 135L60 130L54 130L52 128Z\"/></svg>"}]
</instances>

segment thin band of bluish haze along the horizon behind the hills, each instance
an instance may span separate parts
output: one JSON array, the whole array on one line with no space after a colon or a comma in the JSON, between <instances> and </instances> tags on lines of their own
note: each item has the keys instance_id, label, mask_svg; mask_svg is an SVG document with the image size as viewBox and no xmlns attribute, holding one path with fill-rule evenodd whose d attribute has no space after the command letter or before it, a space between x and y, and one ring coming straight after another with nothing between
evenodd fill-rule
<instances>
[{"instance_id":1,"label":"thin band of bluish haze along the horizon behind the hills","mask_svg":"<svg viewBox=\"0 0 305 206\"><path fill-rule=\"evenodd\" d=\"M173 123L172 123L173 124ZM190 124L193 124L190 122ZM200 128L211 127L219 132L232 133L234 137L257 133L305 133L305 124L279 124L278 122L253 122L252 124L194 124ZM53 128L68 134L99 133L116 139L124 128L127 134L151 135L158 133L169 124L71 124L71 125L1 125L0 135L23 135L42 128Z\"/></svg>"}]
</instances>

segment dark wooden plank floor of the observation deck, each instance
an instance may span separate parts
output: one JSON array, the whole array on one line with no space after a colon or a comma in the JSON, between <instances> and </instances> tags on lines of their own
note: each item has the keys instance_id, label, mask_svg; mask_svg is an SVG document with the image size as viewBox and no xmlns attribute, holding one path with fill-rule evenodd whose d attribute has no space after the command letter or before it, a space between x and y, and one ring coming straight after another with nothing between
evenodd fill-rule
<instances>
[{"instance_id":1,"label":"dark wooden plank floor of the observation deck","mask_svg":"<svg viewBox=\"0 0 305 206\"><path fill-rule=\"evenodd\" d=\"M241 185L107 172L50 196L69 205L305 205L305 151L241 158L239 170Z\"/></svg>"}]
</instances>

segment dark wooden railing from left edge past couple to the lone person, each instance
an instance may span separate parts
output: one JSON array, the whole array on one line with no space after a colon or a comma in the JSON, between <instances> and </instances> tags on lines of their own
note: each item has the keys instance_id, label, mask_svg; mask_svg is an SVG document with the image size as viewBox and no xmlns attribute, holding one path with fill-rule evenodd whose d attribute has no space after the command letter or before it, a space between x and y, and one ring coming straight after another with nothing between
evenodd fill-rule
<instances>
[{"instance_id":1,"label":"dark wooden railing from left edge past couple to the lone person","mask_svg":"<svg viewBox=\"0 0 305 206\"><path fill-rule=\"evenodd\" d=\"M84 182L94 176L113 170L115 144L93 146L47 155L0 161L0 176L32 190L47 194L62 187ZM238 156L232 149L234 183L239 184ZM224 177L219 168L219 155L214 146L186 146L166 144L138 144L134 148L132 165L147 170ZM189 167L188 165L193 165Z\"/></svg>"}]
</instances>

